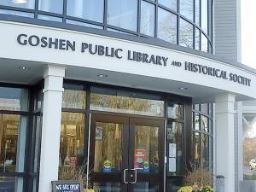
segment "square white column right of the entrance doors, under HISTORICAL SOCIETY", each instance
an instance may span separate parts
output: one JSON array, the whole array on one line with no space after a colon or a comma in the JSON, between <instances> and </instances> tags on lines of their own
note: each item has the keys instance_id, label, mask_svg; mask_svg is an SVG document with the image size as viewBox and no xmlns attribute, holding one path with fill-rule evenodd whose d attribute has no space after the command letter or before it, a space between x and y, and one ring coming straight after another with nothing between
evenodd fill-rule
<instances>
[{"instance_id":1,"label":"square white column right of the entrance doors, under HISTORICAL SOCIETY","mask_svg":"<svg viewBox=\"0 0 256 192\"><path fill-rule=\"evenodd\" d=\"M225 177L224 192L235 191L234 103L230 94L215 97L216 174Z\"/></svg>"}]
</instances>

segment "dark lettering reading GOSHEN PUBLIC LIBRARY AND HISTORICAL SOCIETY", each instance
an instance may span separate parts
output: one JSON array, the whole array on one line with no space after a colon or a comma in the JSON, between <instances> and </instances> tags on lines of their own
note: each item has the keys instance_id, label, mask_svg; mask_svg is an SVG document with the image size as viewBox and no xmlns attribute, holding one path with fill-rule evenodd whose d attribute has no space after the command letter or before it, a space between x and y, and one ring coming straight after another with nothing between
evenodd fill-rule
<instances>
[{"instance_id":1,"label":"dark lettering reading GOSHEN PUBLIC LIBRARY AND HISTORICAL SOCIETY","mask_svg":"<svg viewBox=\"0 0 256 192\"><path fill-rule=\"evenodd\" d=\"M208 66L204 63L191 61L174 61L166 55L154 55L132 49L109 47L102 44L90 44L88 42L76 42L64 38L39 37L38 35L19 34L16 38L22 46L40 47L43 49L59 49L61 51L79 51L81 54L113 57L118 60L136 61L145 64L153 64L161 67L183 67L184 71L211 76L212 78L228 80L236 84L251 86L251 79L241 74L230 73L224 69Z\"/></svg>"}]
</instances>

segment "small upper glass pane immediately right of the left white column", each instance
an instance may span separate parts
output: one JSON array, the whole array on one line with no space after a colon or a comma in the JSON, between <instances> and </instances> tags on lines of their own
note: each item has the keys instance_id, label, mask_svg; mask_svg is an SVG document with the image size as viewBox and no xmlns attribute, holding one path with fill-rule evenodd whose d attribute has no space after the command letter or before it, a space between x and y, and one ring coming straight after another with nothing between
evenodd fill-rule
<instances>
[{"instance_id":1,"label":"small upper glass pane immediately right of the left white column","mask_svg":"<svg viewBox=\"0 0 256 192\"><path fill-rule=\"evenodd\" d=\"M85 90L64 90L62 96L62 108L84 109L86 105Z\"/></svg>"}]
</instances>

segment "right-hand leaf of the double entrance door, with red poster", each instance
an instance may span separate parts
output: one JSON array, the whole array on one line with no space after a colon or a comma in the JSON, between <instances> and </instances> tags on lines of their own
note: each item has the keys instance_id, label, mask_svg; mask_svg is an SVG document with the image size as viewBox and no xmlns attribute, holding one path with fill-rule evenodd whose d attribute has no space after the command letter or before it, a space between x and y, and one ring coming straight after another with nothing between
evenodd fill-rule
<instances>
[{"instance_id":1,"label":"right-hand leaf of the double entrance door, with red poster","mask_svg":"<svg viewBox=\"0 0 256 192\"><path fill-rule=\"evenodd\" d=\"M162 192L164 121L130 118L128 191Z\"/></svg>"}]
</instances>

